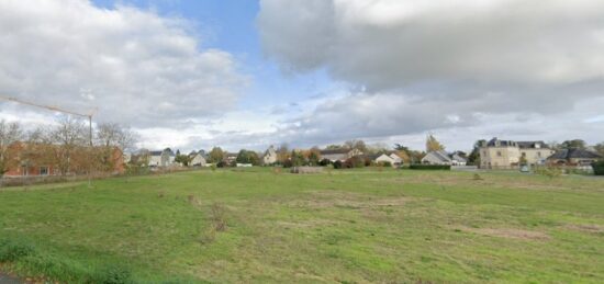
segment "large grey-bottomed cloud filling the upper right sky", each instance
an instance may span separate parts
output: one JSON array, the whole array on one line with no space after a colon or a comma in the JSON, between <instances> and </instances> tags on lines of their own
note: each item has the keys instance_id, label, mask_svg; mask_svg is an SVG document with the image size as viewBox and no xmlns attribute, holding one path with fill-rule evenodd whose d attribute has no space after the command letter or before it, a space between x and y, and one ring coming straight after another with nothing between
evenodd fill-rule
<instances>
[{"instance_id":1,"label":"large grey-bottomed cloud filling the upper right sky","mask_svg":"<svg viewBox=\"0 0 604 284\"><path fill-rule=\"evenodd\" d=\"M326 68L368 92L492 100L484 111L560 110L601 96L604 2L262 0L265 53L283 69ZM497 98L499 100L499 98ZM523 103L510 103L524 100Z\"/></svg>"}]
</instances>

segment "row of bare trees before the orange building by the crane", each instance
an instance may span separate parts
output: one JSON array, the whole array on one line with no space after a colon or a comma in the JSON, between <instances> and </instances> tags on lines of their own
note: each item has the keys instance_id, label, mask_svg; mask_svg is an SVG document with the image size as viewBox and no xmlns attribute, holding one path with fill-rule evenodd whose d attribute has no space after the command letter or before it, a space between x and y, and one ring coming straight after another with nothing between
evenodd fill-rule
<instances>
[{"instance_id":1,"label":"row of bare trees before the orange building by the crane","mask_svg":"<svg viewBox=\"0 0 604 284\"><path fill-rule=\"evenodd\" d=\"M11 169L47 166L58 175L109 173L123 163L123 152L137 136L120 124L100 123L90 136L82 120L57 118L52 126L26 129L0 121L0 178Z\"/></svg>"}]
</instances>

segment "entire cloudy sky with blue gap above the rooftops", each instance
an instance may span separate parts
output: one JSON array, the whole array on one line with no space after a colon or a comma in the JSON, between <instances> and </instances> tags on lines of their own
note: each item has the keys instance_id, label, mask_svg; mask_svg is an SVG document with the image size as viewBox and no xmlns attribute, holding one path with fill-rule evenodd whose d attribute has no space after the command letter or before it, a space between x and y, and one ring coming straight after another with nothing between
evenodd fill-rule
<instances>
[{"instance_id":1,"label":"entire cloudy sky with blue gap above the rooftops","mask_svg":"<svg viewBox=\"0 0 604 284\"><path fill-rule=\"evenodd\" d=\"M595 144L604 1L2 0L0 94L97 109L152 149Z\"/></svg>"}]
</instances>

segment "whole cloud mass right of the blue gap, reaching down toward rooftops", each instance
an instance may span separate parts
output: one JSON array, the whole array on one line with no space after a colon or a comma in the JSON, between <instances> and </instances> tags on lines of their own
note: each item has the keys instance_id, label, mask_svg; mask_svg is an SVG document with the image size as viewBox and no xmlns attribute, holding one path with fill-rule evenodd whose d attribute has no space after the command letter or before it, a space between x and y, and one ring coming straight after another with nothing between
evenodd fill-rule
<instances>
[{"instance_id":1,"label":"whole cloud mass right of the blue gap, reaching down toward rooftops","mask_svg":"<svg viewBox=\"0 0 604 284\"><path fill-rule=\"evenodd\" d=\"M604 2L261 0L262 47L287 71L360 87L292 118L307 144L456 133L602 139ZM532 121L523 121L532 117ZM564 128L570 127L570 128ZM448 137L454 137L449 135ZM423 138L422 138L423 139Z\"/></svg>"}]
</instances>

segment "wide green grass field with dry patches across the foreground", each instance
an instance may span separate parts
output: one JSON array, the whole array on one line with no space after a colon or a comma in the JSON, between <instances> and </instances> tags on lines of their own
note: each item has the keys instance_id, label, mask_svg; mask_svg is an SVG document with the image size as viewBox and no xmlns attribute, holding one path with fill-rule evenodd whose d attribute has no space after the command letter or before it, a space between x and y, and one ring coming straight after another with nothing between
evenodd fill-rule
<instances>
[{"instance_id":1,"label":"wide green grass field with dry patches across the foreground","mask_svg":"<svg viewBox=\"0 0 604 284\"><path fill-rule=\"evenodd\" d=\"M0 191L0 261L63 282L604 282L604 179L197 171Z\"/></svg>"}]
</instances>

